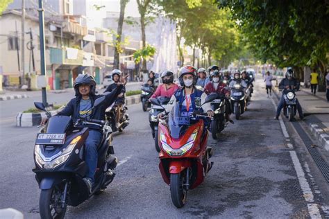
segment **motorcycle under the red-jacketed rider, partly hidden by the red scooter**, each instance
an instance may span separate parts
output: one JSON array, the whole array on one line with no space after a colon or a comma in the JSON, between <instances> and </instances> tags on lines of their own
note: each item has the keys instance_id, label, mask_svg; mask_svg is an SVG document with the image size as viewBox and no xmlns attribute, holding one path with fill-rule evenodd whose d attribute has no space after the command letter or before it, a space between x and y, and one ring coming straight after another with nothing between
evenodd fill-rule
<instances>
[{"instance_id":1,"label":"motorcycle under the red-jacketed rider, partly hidden by the red scooter","mask_svg":"<svg viewBox=\"0 0 329 219\"><path fill-rule=\"evenodd\" d=\"M158 123L159 123L158 114L160 112L164 111L163 108L164 108L165 105L167 105L170 98L160 96L157 99L159 100L161 106L152 105L151 110L150 110L150 114L149 114L149 122L150 122L150 127L151 127L151 130L152 130L152 137L154 139L155 150L160 152L160 147L159 147L159 143L158 143Z\"/></svg>"}]
</instances>

